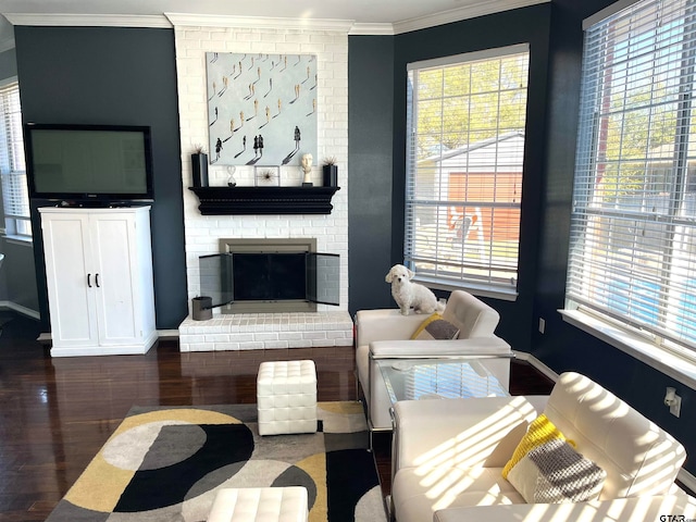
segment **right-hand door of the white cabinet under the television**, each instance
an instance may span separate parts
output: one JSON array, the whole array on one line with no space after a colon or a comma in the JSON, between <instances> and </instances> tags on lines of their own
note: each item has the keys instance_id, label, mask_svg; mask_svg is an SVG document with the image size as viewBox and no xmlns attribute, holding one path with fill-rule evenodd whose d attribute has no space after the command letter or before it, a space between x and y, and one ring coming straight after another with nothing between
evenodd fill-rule
<instances>
[{"instance_id":1,"label":"right-hand door of the white cabinet under the television","mask_svg":"<svg viewBox=\"0 0 696 522\"><path fill-rule=\"evenodd\" d=\"M92 254L98 266L95 295L99 344L130 344L142 336L134 295L138 262L135 220L122 213L96 213L90 217Z\"/></svg>"}]
</instances>

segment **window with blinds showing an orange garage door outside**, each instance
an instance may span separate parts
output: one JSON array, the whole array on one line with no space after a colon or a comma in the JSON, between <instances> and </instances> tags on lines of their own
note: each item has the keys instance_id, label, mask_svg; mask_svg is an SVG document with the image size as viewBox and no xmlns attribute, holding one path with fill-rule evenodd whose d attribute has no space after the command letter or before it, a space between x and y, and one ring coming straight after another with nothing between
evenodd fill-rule
<instances>
[{"instance_id":1,"label":"window with blinds showing an orange garage door outside","mask_svg":"<svg viewBox=\"0 0 696 522\"><path fill-rule=\"evenodd\" d=\"M514 296L529 47L409 65L405 263L443 288Z\"/></svg>"}]
</instances>

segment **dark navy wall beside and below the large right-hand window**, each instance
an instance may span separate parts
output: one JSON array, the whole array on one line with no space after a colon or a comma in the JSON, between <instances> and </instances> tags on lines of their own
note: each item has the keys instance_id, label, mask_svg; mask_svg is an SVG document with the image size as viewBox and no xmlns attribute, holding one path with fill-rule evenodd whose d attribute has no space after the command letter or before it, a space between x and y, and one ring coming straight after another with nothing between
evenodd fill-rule
<instances>
[{"instance_id":1,"label":"dark navy wall beside and below the large right-hand window","mask_svg":"<svg viewBox=\"0 0 696 522\"><path fill-rule=\"evenodd\" d=\"M601 383L685 447L685 468L696 474L696 391L622 351L563 322L570 212L580 107L582 21L613 3L611 0L554 0L549 54L548 138L543 194L538 276L534 293L531 351L554 371L579 371ZM526 192L529 194L529 192ZM536 330L546 320L546 333ZM671 415L662 403L664 388L675 386L682 396L682 417Z\"/></svg>"}]
</instances>

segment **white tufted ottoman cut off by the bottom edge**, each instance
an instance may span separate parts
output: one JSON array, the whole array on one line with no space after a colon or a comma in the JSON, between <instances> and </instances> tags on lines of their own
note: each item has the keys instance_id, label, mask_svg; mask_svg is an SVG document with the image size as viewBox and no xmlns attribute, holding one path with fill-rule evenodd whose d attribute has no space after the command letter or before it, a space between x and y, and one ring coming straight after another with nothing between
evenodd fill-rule
<instances>
[{"instance_id":1,"label":"white tufted ottoman cut off by the bottom edge","mask_svg":"<svg viewBox=\"0 0 696 522\"><path fill-rule=\"evenodd\" d=\"M307 488L245 487L220 489L208 522L307 522Z\"/></svg>"}]
</instances>

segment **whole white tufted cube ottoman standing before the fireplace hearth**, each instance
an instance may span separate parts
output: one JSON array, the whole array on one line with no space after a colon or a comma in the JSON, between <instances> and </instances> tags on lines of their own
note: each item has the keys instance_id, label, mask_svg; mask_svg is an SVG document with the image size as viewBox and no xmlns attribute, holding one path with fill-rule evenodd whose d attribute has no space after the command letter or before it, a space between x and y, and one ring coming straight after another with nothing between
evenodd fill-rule
<instances>
[{"instance_id":1,"label":"whole white tufted cube ottoman standing before the fireplace hearth","mask_svg":"<svg viewBox=\"0 0 696 522\"><path fill-rule=\"evenodd\" d=\"M259 434L316 431L314 361L266 361L257 378Z\"/></svg>"}]
</instances>

